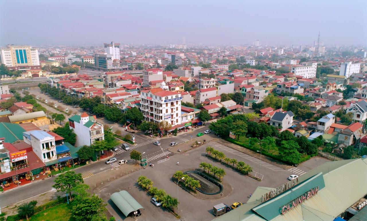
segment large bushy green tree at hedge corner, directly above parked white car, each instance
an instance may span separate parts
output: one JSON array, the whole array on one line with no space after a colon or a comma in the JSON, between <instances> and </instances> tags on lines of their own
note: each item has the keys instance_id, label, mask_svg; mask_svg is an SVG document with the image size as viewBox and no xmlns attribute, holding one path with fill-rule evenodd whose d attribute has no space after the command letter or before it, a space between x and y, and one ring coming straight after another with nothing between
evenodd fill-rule
<instances>
[{"instance_id":1,"label":"large bushy green tree at hedge corner, directly above parked white car","mask_svg":"<svg viewBox=\"0 0 367 221\"><path fill-rule=\"evenodd\" d=\"M297 164L301 161L301 154L298 152L298 149L299 146L296 141L283 140L279 148L279 155L283 161Z\"/></svg>"}]
</instances>

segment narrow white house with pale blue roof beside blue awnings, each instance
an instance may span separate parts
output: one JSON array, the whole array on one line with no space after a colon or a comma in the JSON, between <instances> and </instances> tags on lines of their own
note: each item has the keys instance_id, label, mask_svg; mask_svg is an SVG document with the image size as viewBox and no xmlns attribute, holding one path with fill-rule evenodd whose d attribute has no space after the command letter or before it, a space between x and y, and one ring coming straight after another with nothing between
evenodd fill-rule
<instances>
[{"instance_id":1,"label":"narrow white house with pale blue roof beside blue awnings","mask_svg":"<svg viewBox=\"0 0 367 221\"><path fill-rule=\"evenodd\" d=\"M43 130L30 130L23 132L23 140L32 146L33 152L42 162L57 159L55 137Z\"/></svg>"}]
</instances>

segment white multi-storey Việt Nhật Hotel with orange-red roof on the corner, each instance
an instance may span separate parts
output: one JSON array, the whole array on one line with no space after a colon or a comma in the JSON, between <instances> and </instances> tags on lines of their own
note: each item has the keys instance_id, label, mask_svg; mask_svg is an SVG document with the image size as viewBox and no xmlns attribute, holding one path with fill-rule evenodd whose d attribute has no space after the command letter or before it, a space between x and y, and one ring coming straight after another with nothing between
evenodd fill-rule
<instances>
[{"instance_id":1,"label":"white multi-storey Vi\u1ec7t Nh\u1eadt Hotel with orange-red roof on the corner","mask_svg":"<svg viewBox=\"0 0 367 221\"><path fill-rule=\"evenodd\" d=\"M180 93L156 88L141 91L140 98L140 110L146 121L154 121L157 124L167 121L172 126L181 124Z\"/></svg>"}]
</instances>

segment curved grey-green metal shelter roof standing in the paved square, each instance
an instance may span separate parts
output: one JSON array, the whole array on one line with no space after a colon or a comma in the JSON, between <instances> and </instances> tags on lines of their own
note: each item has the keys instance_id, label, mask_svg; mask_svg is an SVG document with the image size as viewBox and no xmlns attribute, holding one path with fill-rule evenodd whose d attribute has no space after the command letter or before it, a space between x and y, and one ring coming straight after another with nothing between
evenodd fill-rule
<instances>
[{"instance_id":1,"label":"curved grey-green metal shelter roof standing in the paved square","mask_svg":"<svg viewBox=\"0 0 367 221\"><path fill-rule=\"evenodd\" d=\"M144 209L126 190L115 192L110 198L126 217L131 212Z\"/></svg>"}]
</instances>

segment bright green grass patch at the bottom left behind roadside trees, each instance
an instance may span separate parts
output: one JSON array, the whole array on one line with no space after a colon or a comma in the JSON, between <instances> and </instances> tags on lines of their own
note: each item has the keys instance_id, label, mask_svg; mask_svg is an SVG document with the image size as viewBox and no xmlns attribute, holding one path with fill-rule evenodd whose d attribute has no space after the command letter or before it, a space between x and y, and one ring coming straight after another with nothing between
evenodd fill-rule
<instances>
[{"instance_id":1,"label":"bright green grass patch at the bottom left behind roadside trees","mask_svg":"<svg viewBox=\"0 0 367 221\"><path fill-rule=\"evenodd\" d=\"M56 206L48 207L30 217L34 221L68 221L71 218L71 208L67 203L61 203Z\"/></svg>"}]
</instances>

